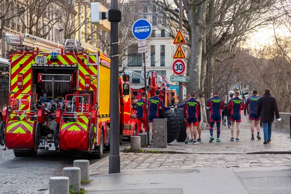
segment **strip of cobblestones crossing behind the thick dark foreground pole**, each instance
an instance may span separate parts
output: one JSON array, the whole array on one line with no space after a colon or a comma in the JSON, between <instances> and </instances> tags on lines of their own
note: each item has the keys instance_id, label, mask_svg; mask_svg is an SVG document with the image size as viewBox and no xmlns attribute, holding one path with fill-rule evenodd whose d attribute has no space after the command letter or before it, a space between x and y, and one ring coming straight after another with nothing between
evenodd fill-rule
<instances>
[{"instance_id":1,"label":"strip of cobblestones crossing behind the thick dark foreground pole","mask_svg":"<svg viewBox=\"0 0 291 194\"><path fill-rule=\"evenodd\" d=\"M121 170L246 168L291 165L291 154L122 153ZM90 175L108 173L108 157L90 165Z\"/></svg>"}]
</instances>

